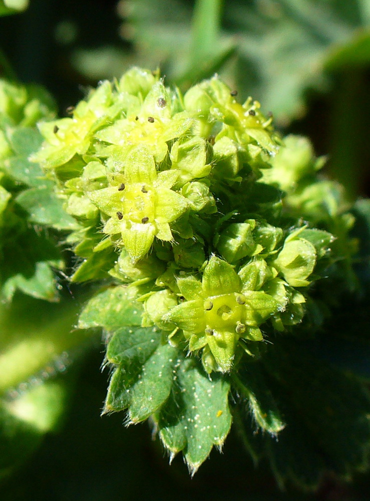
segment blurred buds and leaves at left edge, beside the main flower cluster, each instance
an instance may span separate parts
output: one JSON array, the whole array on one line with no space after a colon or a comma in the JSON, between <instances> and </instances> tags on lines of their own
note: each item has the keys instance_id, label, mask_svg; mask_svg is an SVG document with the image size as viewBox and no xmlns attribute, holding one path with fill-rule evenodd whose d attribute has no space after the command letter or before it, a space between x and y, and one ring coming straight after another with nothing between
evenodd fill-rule
<instances>
[{"instance_id":1,"label":"blurred buds and leaves at left edge, beside the main flower cluster","mask_svg":"<svg viewBox=\"0 0 370 501\"><path fill-rule=\"evenodd\" d=\"M35 298L58 300L53 268L63 268L56 241L42 224L71 229L75 223L29 155L40 148L40 119L54 115L41 88L0 81L0 290L10 301L17 290Z\"/></svg>"}]
</instances>

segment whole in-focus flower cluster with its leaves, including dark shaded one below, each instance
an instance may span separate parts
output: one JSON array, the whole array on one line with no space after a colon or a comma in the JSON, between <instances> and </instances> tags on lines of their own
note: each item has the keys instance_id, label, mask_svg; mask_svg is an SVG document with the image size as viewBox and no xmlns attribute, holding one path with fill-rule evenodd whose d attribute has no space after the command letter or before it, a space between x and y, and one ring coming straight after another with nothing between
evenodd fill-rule
<instances>
[{"instance_id":1,"label":"whole in-focus flower cluster with its leaves, including dark shaded one below","mask_svg":"<svg viewBox=\"0 0 370 501\"><path fill-rule=\"evenodd\" d=\"M357 287L324 159L217 76L182 95L133 68L70 115L39 122L28 161L61 204L46 224L79 258L72 282L102 283L78 327L106 335L104 412L149 418L192 473L232 421L281 482L363 468L366 390L309 349Z\"/></svg>"}]
</instances>

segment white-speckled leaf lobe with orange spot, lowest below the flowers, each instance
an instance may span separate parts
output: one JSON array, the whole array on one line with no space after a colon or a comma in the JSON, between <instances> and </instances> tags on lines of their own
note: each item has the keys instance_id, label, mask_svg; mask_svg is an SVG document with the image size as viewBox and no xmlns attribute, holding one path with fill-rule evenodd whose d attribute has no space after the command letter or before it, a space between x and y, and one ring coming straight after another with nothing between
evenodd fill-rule
<instances>
[{"instance_id":1,"label":"white-speckled leaf lobe with orange spot, lowest below the flowers","mask_svg":"<svg viewBox=\"0 0 370 501\"><path fill-rule=\"evenodd\" d=\"M221 447L229 432L229 384L217 374L210 380L192 359L179 359L176 369L170 397L155 421L171 458L182 450L194 474L213 445Z\"/></svg>"}]
</instances>

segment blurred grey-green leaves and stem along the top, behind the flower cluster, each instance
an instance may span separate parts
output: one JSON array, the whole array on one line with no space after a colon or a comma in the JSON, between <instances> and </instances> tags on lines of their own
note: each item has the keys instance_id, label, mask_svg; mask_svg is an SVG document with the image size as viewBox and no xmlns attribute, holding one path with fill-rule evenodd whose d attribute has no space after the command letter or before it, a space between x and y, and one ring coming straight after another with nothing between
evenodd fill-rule
<instances>
[{"instance_id":1,"label":"blurred grey-green leaves and stem along the top, behind the flower cluster","mask_svg":"<svg viewBox=\"0 0 370 501\"><path fill-rule=\"evenodd\" d=\"M122 34L133 43L136 64L161 65L183 88L220 71L282 123L304 114L307 90L329 88L331 72L370 58L368 0L197 0L194 10L181 0L125 5ZM98 74L89 61L101 51L76 51L74 64L85 75L111 78L133 62L123 50L115 55L116 68Z\"/></svg>"}]
</instances>

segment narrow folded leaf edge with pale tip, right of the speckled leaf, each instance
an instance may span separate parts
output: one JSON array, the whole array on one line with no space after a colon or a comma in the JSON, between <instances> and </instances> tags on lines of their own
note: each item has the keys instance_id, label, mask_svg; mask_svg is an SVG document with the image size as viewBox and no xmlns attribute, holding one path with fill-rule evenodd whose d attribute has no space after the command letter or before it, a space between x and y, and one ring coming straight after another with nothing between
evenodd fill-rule
<instances>
[{"instance_id":1,"label":"narrow folded leaf edge with pale tip, right of the speckled leaf","mask_svg":"<svg viewBox=\"0 0 370 501\"><path fill-rule=\"evenodd\" d=\"M276 435L284 429L285 423L264 375L256 363L249 363L239 370L232 376L232 382L263 431Z\"/></svg>"}]
</instances>

